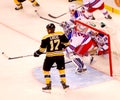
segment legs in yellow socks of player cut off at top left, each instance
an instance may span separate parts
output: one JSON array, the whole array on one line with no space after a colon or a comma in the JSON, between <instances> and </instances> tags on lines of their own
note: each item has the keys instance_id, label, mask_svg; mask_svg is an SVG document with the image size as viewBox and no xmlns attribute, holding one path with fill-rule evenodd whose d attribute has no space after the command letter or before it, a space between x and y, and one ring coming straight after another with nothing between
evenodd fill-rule
<instances>
[{"instance_id":1,"label":"legs in yellow socks of player cut off at top left","mask_svg":"<svg viewBox=\"0 0 120 100\"><path fill-rule=\"evenodd\" d=\"M15 10L23 9L22 2L24 2L24 1L26 1L26 0L14 0L14 3L17 5L17 7L15 7ZM34 7L40 6L36 0L29 0L29 1L32 3L32 5Z\"/></svg>"}]
</instances>

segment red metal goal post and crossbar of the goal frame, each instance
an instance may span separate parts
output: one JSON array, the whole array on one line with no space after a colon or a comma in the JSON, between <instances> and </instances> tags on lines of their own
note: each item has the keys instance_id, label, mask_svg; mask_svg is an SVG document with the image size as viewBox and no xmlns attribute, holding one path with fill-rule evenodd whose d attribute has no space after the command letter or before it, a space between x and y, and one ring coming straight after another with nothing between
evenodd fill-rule
<instances>
[{"instance_id":1,"label":"red metal goal post and crossbar of the goal frame","mask_svg":"<svg viewBox=\"0 0 120 100\"><path fill-rule=\"evenodd\" d=\"M112 70L112 53L111 53L111 41L110 41L110 35L104 31L102 31L101 29L95 28L89 24L84 23L83 21L80 20L75 20L75 25L76 25L76 29L79 30L80 25L87 27L91 30L94 30L96 32L102 33L104 35L106 35L108 37L108 46L109 46L109 50L108 50L108 64L109 64L109 75L113 76L113 70ZM102 71L104 72L104 71Z\"/></svg>"}]
</instances>

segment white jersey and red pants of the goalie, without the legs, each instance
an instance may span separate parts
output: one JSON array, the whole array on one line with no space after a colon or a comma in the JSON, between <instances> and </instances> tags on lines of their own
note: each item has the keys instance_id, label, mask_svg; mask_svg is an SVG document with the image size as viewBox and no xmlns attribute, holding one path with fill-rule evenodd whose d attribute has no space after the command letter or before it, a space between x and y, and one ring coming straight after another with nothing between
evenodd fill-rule
<instances>
[{"instance_id":1,"label":"white jersey and red pants of the goalie, without the legs","mask_svg":"<svg viewBox=\"0 0 120 100\"><path fill-rule=\"evenodd\" d=\"M94 46L95 42L88 34L75 30L73 36L71 37L70 45L67 49L69 52L74 52L83 57L87 56Z\"/></svg>"}]
</instances>

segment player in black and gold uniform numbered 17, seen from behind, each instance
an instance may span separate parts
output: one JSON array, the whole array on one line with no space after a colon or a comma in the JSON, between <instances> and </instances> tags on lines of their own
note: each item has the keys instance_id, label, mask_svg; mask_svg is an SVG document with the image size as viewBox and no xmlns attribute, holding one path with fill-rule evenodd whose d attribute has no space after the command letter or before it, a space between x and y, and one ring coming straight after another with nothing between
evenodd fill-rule
<instances>
[{"instance_id":1,"label":"player in black and gold uniform numbered 17, seen from behind","mask_svg":"<svg viewBox=\"0 0 120 100\"><path fill-rule=\"evenodd\" d=\"M46 28L48 34L42 38L40 48L34 52L34 57L39 57L40 54L46 51L46 58L43 64L46 87L43 87L42 90L51 90L50 69L54 63L57 64L63 89L66 89L69 85L66 84L63 49L69 45L69 40L63 32L55 32L55 25L53 23L48 24Z\"/></svg>"}]
</instances>

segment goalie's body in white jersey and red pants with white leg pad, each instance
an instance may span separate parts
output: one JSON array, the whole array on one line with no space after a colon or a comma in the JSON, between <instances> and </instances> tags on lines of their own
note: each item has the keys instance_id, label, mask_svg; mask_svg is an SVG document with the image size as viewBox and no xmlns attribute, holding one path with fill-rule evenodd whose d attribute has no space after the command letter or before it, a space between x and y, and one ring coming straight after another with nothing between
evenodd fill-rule
<instances>
[{"instance_id":1,"label":"goalie's body in white jersey and red pants with white leg pad","mask_svg":"<svg viewBox=\"0 0 120 100\"><path fill-rule=\"evenodd\" d=\"M87 68L84 62L81 60L80 57L87 56L90 59L89 64L92 63L94 57L91 56L91 51L95 47L95 43L92 38L85 34L84 32L76 31L75 29L72 37L70 39L70 45L66 48L66 54L68 57L71 57L71 53L76 54L79 57L75 57L72 59L72 62L77 66L77 72L86 71Z\"/></svg>"}]
</instances>

